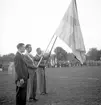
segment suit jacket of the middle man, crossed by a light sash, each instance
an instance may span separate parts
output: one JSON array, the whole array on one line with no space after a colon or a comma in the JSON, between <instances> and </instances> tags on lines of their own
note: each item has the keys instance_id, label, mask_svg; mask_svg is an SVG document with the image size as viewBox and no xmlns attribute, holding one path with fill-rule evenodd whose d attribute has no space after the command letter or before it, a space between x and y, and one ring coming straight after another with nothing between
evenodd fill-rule
<instances>
[{"instance_id":1,"label":"suit jacket of the middle man, crossed by a light sash","mask_svg":"<svg viewBox=\"0 0 101 105\"><path fill-rule=\"evenodd\" d=\"M32 57L32 59L33 59L33 56L31 56L31 57ZM26 64L27 64L29 75L33 75L33 72L35 72L35 70L36 70L37 68L33 66L33 62L32 62L32 60L28 57L28 55L25 55L24 60L25 60L25 62L26 62Z\"/></svg>"}]
</instances>

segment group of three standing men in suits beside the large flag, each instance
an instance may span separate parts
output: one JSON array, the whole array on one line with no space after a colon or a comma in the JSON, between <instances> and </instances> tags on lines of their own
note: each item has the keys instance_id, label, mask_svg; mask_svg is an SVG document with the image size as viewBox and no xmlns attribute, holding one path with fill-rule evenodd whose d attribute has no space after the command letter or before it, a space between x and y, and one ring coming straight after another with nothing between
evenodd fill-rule
<instances>
[{"instance_id":1,"label":"group of three standing men in suits beside the large flag","mask_svg":"<svg viewBox=\"0 0 101 105\"><path fill-rule=\"evenodd\" d=\"M37 48L37 54L33 56L31 45L24 43L19 43L17 50L14 58L16 105L26 105L27 101L38 101L37 92L47 94L45 68L49 55L44 55L41 48Z\"/></svg>"}]
</instances>

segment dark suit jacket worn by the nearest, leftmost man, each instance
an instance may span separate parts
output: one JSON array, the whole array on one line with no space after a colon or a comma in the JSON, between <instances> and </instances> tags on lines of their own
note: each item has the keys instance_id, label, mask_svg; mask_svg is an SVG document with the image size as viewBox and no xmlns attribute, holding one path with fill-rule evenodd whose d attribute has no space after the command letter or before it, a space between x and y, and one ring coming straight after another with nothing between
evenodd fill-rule
<instances>
[{"instance_id":1,"label":"dark suit jacket worn by the nearest, leftmost man","mask_svg":"<svg viewBox=\"0 0 101 105\"><path fill-rule=\"evenodd\" d=\"M27 68L27 64L23 59L23 55L21 55L19 52L16 53L16 56L14 58L14 64L15 64L15 72L16 72L15 83L20 79L24 79L26 81L29 77L28 68Z\"/></svg>"}]
</instances>

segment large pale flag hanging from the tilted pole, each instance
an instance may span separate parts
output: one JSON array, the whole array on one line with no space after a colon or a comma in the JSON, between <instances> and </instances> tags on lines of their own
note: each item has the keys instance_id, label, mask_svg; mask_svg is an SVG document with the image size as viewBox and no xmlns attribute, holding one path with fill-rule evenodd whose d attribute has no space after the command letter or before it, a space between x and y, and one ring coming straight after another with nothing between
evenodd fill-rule
<instances>
[{"instance_id":1,"label":"large pale flag hanging from the tilted pole","mask_svg":"<svg viewBox=\"0 0 101 105\"><path fill-rule=\"evenodd\" d=\"M78 20L76 0L71 1L55 35L72 49L73 54L83 64L86 51Z\"/></svg>"}]
</instances>

